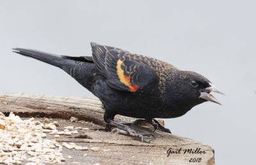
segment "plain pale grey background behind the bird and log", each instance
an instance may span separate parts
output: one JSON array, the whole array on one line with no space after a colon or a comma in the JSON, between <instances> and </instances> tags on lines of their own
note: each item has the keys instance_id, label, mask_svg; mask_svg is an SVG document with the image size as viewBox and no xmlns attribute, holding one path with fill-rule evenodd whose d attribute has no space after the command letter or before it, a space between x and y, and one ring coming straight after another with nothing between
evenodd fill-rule
<instances>
[{"instance_id":1,"label":"plain pale grey background behind the bird and log","mask_svg":"<svg viewBox=\"0 0 256 165\"><path fill-rule=\"evenodd\" d=\"M216 164L255 162L255 1L0 1L0 94L94 97L64 71L13 54L91 55L90 41L170 62L211 80L223 106L166 119L211 145Z\"/></svg>"}]
</instances>

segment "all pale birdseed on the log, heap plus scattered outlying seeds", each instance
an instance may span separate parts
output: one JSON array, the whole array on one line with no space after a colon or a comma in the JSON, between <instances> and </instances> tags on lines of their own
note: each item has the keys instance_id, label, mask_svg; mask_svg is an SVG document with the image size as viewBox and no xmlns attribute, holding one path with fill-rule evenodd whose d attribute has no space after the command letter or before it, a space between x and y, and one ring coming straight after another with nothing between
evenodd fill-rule
<instances>
[{"instance_id":1,"label":"all pale birdseed on the log, heap plus scattered outlying seeds","mask_svg":"<svg viewBox=\"0 0 256 165\"><path fill-rule=\"evenodd\" d=\"M72 121L73 120L73 121ZM75 117L70 118L71 122L77 122ZM45 118L44 122L49 122ZM65 161L62 155L62 147L76 150L99 151L99 147L81 147L75 143L58 143L56 140L44 139L45 133L55 135L54 138L60 138L60 135L70 136L77 134L76 130L88 130L88 128L74 126L64 127L64 131L58 131L56 127L59 123L54 121L49 124L42 124L35 118L22 120L12 112L8 117L0 112L0 163L4 164L22 164L22 161L28 161L26 165L47 163L60 163ZM84 154L86 156L87 154ZM68 156L67 159L72 159Z\"/></svg>"}]
</instances>

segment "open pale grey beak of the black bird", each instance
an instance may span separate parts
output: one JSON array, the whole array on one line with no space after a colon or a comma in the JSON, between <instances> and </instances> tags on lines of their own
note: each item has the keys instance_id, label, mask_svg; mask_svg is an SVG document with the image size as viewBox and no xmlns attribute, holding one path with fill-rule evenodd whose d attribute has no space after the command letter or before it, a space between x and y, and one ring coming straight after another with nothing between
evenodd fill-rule
<instances>
[{"instance_id":1,"label":"open pale grey beak of the black bird","mask_svg":"<svg viewBox=\"0 0 256 165\"><path fill-rule=\"evenodd\" d=\"M216 87L214 85L212 85L212 83L209 83L210 87L207 87L205 89L200 90L200 98L202 99L206 99L207 101L211 101L213 103L217 103L220 104L220 101L218 101L218 99L216 99L215 97L213 97L210 92L216 92L219 94L223 94L222 92L220 92L220 90L216 89Z\"/></svg>"}]
</instances>

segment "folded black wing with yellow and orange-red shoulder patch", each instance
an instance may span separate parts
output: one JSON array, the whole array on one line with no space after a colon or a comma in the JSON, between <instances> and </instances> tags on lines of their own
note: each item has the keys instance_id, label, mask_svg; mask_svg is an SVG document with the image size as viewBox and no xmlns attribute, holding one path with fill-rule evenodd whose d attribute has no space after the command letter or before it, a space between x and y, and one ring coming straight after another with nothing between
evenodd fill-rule
<instances>
[{"instance_id":1,"label":"folded black wing with yellow and orange-red shoulder patch","mask_svg":"<svg viewBox=\"0 0 256 165\"><path fill-rule=\"evenodd\" d=\"M102 45L92 47L92 52L94 63L114 89L136 92L159 82L156 71L149 65L150 58Z\"/></svg>"}]
</instances>

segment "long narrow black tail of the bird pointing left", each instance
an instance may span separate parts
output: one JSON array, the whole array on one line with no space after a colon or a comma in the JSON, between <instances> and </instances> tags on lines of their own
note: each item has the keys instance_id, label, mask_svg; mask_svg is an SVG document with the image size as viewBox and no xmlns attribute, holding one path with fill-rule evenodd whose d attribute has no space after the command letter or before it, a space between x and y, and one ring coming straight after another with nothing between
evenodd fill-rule
<instances>
[{"instance_id":1,"label":"long narrow black tail of the bird pointing left","mask_svg":"<svg viewBox=\"0 0 256 165\"><path fill-rule=\"evenodd\" d=\"M21 54L27 57L32 57L42 62L46 62L47 64L51 64L53 66L57 66L58 68L63 69L63 66L67 66L68 63L72 64L73 61L65 58L61 55L49 54L46 52L41 52L38 50L29 50L24 48L13 48L13 52L17 54Z\"/></svg>"}]
</instances>

